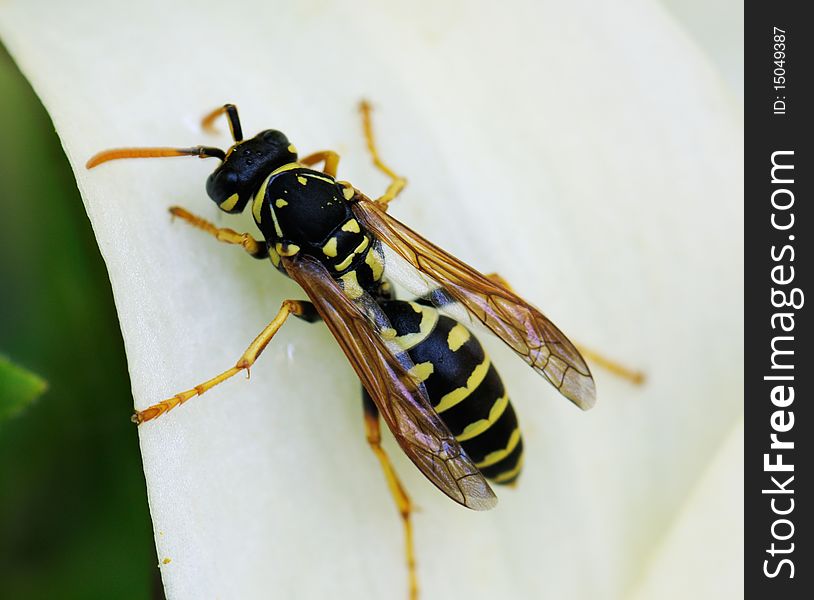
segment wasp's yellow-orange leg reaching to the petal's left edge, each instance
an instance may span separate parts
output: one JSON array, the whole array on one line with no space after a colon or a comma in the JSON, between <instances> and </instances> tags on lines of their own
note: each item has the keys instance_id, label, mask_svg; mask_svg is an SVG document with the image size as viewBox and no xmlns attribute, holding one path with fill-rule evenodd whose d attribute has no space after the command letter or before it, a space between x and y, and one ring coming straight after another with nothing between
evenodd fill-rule
<instances>
[{"instance_id":1,"label":"wasp's yellow-orange leg reaching to the petal's left edge","mask_svg":"<svg viewBox=\"0 0 814 600\"><path fill-rule=\"evenodd\" d=\"M153 404L145 408L144 410L136 411L136 413L132 417L132 421L138 425L144 423L145 421L151 421L156 417L160 417L164 413L172 410L176 406L183 404L190 398L194 398L195 396L200 396L207 390L211 390L213 387L218 385L219 383L223 383L230 377L237 375L242 370L248 371L249 368L254 364L257 360L257 357L266 349L271 338L274 337L274 334L283 326L286 319L289 315L295 316L302 316L306 320L311 318L312 314L315 313L314 306L310 302L301 302L299 300L284 300L283 305L280 307L280 312L277 313L277 316L274 317L274 320L266 325L266 328L260 332L254 341L246 348L246 351L243 355L238 359L235 363L235 366L231 369L227 369L220 375L213 377L209 381L205 381L199 385L196 385L194 388L186 390L185 392L181 392L179 394L175 394L172 398L167 398L166 400L162 400L157 404Z\"/></svg>"}]
</instances>

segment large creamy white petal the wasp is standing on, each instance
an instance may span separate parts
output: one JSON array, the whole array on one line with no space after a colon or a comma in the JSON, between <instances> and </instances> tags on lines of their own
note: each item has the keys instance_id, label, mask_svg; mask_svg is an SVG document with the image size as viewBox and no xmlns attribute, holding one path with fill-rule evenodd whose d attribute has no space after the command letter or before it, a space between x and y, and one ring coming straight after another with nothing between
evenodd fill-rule
<instances>
[{"instance_id":1,"label":"large creamy white petal the wasp is standing on","mask_svg":"<svg viewBox=\"0 0 814 600\"><path fill-rule=\"evenodd\" d=\"M476 514L396 456L422 509L425 597L616 598L645 577L742 392L737 110L658 5L26 0L0 5L0 33L76 170L137 406L228 367L301 293L170 222L182 204L250 227L205 197L211 161L85 160L226 143L197 122L232 101L247 131L336 148L341 176L375 193L355 113L370 97L383 154L410 179L394 213L649 378L634 389L598 372L583 414L490 340L526 471ZM168 597L402 595L358 387L324 328L293 322L250 382L142 427Z\"/></svg>"}]
</instances>

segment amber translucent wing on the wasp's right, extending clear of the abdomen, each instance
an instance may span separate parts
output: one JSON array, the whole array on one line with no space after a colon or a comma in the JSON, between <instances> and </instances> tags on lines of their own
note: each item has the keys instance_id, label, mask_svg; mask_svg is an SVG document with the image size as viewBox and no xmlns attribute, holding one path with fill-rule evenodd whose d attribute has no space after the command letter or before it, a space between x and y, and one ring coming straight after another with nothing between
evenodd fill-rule
<instances>
[{"instance_id":1,"label":"amber translucent wing on the wasp's right, extending clear of the abdomen","mask_svg":"<svg viewBox=\"0 0 814 600\"><path fill-rule=\"evenodd\" d=\"M517 352L560 393L583 410L596 388L579 351L543 313L503 285L485 277L361 194L351 206L357 220L421 273L438 282L477 320Z\"/></svg>"}]
</instances>

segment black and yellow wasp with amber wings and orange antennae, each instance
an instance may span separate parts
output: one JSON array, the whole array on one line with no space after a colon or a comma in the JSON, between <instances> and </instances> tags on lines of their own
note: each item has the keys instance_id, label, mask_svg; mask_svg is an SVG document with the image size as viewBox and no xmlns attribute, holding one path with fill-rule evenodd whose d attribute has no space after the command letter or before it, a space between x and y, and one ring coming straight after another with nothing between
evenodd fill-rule
<instances>
[{"instance_id":1,"label":"black and yellow wasp with amber wings and orange antennae","mask_svg":"<svg viewBox=\"0 0 814 600\"><path fill-rule=\"evenodd\" d=\"M254 258L269 259L308 297L285 300L235 366L137 411L133 421L151 421L249 369L289 316L324 322L363 385L367 441L402 517L409 596L417 598L413 507L381 446L380 418L427 479L470 509L494 507L497 498L487 480L513 483L523 465L517 416L503 382L461 321L468 315L484 325L582 409L593 406L595 386L575 345L500 276L481 274L388 214L406 180L379 157L370 105L362 102L360 111L373 164L390 180L375 199L336 179L336 152L300 158L288 138L273 129L244 140L233 104L203 120L211 130L225 116L234 140L227 151L119 148L96 154L87 167L129 158L218 159L221 164L206 181L207 194L230 214L250 208L262 238L216 227L180 207L170 212ZM426 294L411 302L395 298L387 276L396 263L420 274L428 284ZM461 319L439 312L454 307L464 309Z\"/></svg>"}]
</instances>

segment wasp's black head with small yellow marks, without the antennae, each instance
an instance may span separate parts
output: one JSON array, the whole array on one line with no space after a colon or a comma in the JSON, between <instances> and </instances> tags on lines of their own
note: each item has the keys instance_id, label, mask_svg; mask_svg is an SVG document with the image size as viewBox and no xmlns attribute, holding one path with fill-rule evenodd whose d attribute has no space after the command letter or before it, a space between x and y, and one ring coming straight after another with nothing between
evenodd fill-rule
<instances>
[{"instance_id":1,"label":"wasp's black head with small yellow marks, without the antennae","mask_svg":"<svg viewBox=\"0 0 814 600\"><path fill-rule=\"evenodd\" d=\"M297 151L280 131L268 129L238 142L206 180L206 193L229 213L242 212L263 180L277 167L297 160Z\"/></svg>"}]
</instances>

